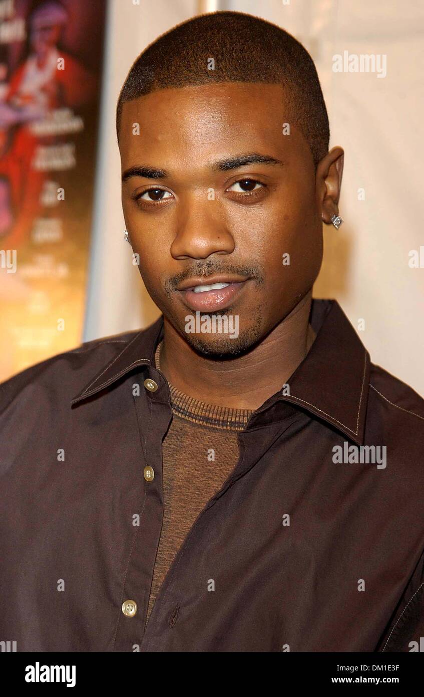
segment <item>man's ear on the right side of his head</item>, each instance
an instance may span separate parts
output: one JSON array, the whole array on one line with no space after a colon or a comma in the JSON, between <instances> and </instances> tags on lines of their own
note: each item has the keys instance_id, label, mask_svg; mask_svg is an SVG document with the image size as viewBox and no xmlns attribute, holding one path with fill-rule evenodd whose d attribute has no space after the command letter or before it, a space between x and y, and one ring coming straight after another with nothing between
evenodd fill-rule
<instances>
[{"instance_id":1,"label":"man's ear on the right side of his head","mask_svg":"<svg viewBox=\"0 0 424 697\"><path fill-rule=\"evenodd\" d=\"M318 163L316 174L317 204L322 220L329 224L331 217L338 215L338 199L342 185L345 153L343 148L331 148Z\"/></svg>"}]
</instances>

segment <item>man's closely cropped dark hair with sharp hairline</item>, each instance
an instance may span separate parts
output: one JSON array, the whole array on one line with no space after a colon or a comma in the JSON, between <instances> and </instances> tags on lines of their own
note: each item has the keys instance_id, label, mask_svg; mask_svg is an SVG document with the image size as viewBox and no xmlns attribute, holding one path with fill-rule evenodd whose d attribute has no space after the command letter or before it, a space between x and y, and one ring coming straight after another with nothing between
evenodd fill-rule
<instances>
[{"instance_id":1,"label":"man's closely cropped dark hair with sharp hairline","mask_svg":"<svg viewBox=\"0 0 424 697\"><path fill-rule=\"evenodd\" d=\"M208 61L214 59L214 70ZM199 15L159 36L129 69L116 107L119 144L123 104L167 87L263 82L285 90L285 121L297 124L315 167L329 149L329 119L311 56L276 24L239 12Z\"/></svg>"}]
</instances>

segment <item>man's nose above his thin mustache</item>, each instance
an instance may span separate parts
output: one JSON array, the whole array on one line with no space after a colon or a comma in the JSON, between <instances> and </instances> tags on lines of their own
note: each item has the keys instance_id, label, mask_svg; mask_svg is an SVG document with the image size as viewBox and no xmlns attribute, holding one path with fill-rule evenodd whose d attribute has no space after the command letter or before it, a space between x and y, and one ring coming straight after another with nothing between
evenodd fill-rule
<instances>
[{"instance_id":1,"label":"man's nose above his thin mustache","mask_svg":"<svg viewBox=\"0 0 424 697\"><path fill-rule=\"evenodd\" d=\"M228 229L219 201L207 194L180 201L177 232L171 245L174 259L206 259L210 254L231 254L235 240Z\"/></svg>"}]
</instances>

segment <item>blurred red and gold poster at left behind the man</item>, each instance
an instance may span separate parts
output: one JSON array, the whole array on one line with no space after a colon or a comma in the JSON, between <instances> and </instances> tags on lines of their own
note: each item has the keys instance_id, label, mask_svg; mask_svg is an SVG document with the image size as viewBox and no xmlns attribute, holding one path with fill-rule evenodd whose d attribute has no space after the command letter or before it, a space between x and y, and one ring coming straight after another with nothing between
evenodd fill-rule
<instances>
[{"instance_id":1,"label":"blurred red and gold poster at left behind the man","mask_svg":"<svg viewBox=\"0 0 424 697\"><path fill-rule=\"evenodd\" d=\"M0 0L0 381L81 342L105 0Z\"/></svg>"}]
</instances>

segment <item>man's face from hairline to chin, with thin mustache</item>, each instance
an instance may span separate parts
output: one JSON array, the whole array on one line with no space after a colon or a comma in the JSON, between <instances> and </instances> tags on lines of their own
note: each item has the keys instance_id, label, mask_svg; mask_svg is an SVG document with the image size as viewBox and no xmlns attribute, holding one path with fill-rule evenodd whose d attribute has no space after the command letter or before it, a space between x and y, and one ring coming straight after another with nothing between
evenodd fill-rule
<instances>
[{"instance_id":1,"label":"man's face from hairline to chin, with thin mustache","mask_svg":"<svg viewBox=\"0 0 424 697\"><path fill-rule=\"evenodd\" d=\"M299 129L290 123L288 135L284 123L283 88L274 84L164 89L123 105L122 172L150 169L133 171L122 188L141 276L165 321L211 357L260 341L320 270L313 158ZM249 164L251 155L275 162ZM203 288L216 283L225 287ZM191 333L193 324L187 331L196 312L233 316L237 337Z\"/></svg>"}]
</instances>

